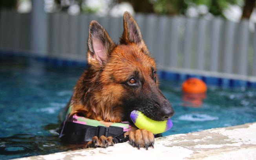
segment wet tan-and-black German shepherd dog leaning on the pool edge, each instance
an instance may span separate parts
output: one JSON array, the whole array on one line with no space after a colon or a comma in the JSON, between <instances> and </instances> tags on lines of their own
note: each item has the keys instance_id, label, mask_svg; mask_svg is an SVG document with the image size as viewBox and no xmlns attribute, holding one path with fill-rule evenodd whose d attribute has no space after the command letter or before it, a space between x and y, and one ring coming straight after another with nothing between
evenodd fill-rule
<instances>
[{"instance_id":1,"label":"wet tan-and-black German shepherd dog leaning on the pool edge","mask_svg":"<svg viewBox=\"0 0 256 160\"><path fill-rule=\"evenodd\" d=\"M74 87L70 115L79 114L105 122L130 121L133 110L162 121L174 115L172 105L158 88L154 59L144 44L141 31L130 15L124 13L120 44L110 39L105 29L91 21L88 37L88 69ZM132 122L131 122L132 123ZM143 129L130 131L134 146L154 147L154 135ZM88 147L113 145L112 137L97 136Z\"/></svg>"}]
</instances>

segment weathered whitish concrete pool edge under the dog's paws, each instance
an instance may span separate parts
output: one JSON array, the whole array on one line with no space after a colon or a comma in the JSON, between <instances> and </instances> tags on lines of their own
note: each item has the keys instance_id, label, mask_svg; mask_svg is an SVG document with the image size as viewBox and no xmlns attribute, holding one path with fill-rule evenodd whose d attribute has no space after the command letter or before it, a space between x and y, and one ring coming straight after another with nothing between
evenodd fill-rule
<instances>
[{"instance_id":1,"label":"weathered whitish concrete pool edge under the dog's paws","mask_svg":"<svg viewBox=\"0 0 256 160\"><path fill-rule=\"evenodd\" d=\"M155 139L155 148L140 150L128 142L108 148L90 148L19 160L84 159L255 160L256 122Z\"/></svg>"}]
</instances>

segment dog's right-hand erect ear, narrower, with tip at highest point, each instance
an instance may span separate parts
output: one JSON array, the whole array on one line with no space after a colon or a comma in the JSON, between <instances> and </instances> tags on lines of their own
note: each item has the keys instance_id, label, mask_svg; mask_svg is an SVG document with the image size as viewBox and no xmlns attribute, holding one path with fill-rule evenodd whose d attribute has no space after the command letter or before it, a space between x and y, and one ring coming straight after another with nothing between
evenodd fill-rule
<instances>
[{"instance_id":1,"label":"dog's right-hand erect ear, narrower, with tip at highest point","mask_svg":"<svg viewBox=\"0 0 256 160\"><path fill-rule=\"evenodd\" d=\"M124 31L120 38L121 44L135 43L144 45L139 26L129 12L124 12Z\"/></svg>"}]
</instances>

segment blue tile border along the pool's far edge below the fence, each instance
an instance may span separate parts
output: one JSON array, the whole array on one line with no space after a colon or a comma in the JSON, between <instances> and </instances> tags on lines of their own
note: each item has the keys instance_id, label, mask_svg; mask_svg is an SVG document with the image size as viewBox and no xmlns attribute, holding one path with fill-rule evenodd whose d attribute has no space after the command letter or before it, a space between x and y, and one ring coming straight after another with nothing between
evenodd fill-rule
<instances>
[{"instance_id":1,"label":"blue tile border along the pool's far edge below the fence","mask_svg":"<svg viewBox=\"0 0 256 160\"><path fill-rule=\"evenodd\" d=\"M1 56L33 58L40 62L44 62L46 64L51 64L51 65L57 65L57 66L87 67L86 62L77 62L75 60L62 60L62 59L51 58L51 57L27 55L22 52L0 51L0 58ZM250 82L245 80L236 80L236 79L221 78L221 77L214 77L214 76L201 76L201 75L178 73L178 72L164 71L164 70L158 71L157 74L158 74L158 77L162 80L174 80L174 81L182 82L188 78L194 77L194 78L199 78L203 80L207 85L211 85L211 86L219 86L223 88L248 87L248 88L256 89L256 82Z\"/></svg>"}]
</instances>

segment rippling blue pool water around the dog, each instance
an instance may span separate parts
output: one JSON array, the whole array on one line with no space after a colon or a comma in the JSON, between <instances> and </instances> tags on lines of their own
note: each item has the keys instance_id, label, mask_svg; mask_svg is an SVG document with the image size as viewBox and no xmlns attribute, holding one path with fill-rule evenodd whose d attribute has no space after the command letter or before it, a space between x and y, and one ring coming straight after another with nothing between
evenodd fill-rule
<instances>
[{"instance_id":1,"label":"rippling blue pool water around the dog","mask_svg":"<svg viewBox=\"0 0 256 160\"><path fill-rule=\"evenodd\" d=\"M85 68L0 56L0 159L83 147L60 142L56 129L58 113ZM176 112L172 129L163 135L256 122L255 89L209 87L202 104L191 107L183 99L181 82L162 80L160 88Z\"/></svg>"}]
</instances>

